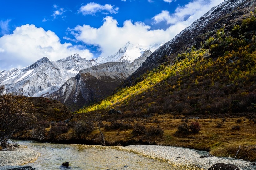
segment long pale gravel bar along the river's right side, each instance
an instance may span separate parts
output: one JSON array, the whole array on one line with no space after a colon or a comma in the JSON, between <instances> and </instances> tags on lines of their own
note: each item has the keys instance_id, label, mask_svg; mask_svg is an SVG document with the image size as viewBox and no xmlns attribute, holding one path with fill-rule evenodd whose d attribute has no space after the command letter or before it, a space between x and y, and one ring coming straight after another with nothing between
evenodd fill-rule
<instances>
[{"instance_id":1,"label":"long pale gravel bar along the river's right side","mask_svg":"<svg viewBox=\"0 0 256 170\"><path fill-rule=\"evenodd\" d=\"M214 157L210 156L208 152L194 149L149 145L115 146L114 148L164 160L172 165L187 168L208 169L215 163L230 163L238 166L240 170L256 169L256 166L251 165L250 162L233 158Z\"/></svg>"}]
</instances>

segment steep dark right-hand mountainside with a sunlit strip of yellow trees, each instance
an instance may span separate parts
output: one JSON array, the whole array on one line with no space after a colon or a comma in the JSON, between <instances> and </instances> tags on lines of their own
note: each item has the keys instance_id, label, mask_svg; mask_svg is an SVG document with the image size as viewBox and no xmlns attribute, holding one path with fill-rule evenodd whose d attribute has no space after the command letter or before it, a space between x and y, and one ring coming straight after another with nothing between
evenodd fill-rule
<instances>
[{"instance_id":1,"label":"steep dark right-hand mountainside with a sunlit strip of yellow trees","mask_svg":"<svg viewBox=\"0 0 256 170\"><path fill-rule=\"evenodd\" d=\"M200 29L195 31L197 37L187 39L187 44L191 46L177 51L180 52L178 54L162 58L160 55L158 58L155 52L152 53L149 57L156 66L163 58L166 62L157 68L152 66L154 69L140 77L136 78L133 74L125 80L130 87L120 88L112 96L78 113L106 108L121 108L129 115L177 111L183 114L255 111L255 3L228 0L214 9L220 8L224 11L229 9L219 19L226 24L219 22L219 25L214 25L214 28L220 29L204 34ZM214 9L210 11L213 16ZM212 15L206 18L212 18ZM202 23L202 27L204 23L209 23L205 27L212 26L212 22ZM180 39L186 39L186 31L182 33L179 34ZM194 46L193 42L198 39L202 41ZM170 47L175 46L173 41L170 41ZM160 49L162 47L156 51L163 53ZM147 64L151 64L149 58L136 72L148 68ZM234 106L237 109L233 109Z\"/></svg>"}]
</instances>

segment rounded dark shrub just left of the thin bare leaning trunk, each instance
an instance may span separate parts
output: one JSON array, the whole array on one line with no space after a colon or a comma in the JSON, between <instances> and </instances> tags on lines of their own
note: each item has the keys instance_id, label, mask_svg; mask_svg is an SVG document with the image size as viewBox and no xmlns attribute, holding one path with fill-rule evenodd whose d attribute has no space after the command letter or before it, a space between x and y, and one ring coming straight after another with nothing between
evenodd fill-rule
<instances>
[{"instance_id":1,"label":"rounded dark shrub just left of the thin bare leaning trunk","mask_svg":"<svg viewBox=\"0 0 256 170\"><path fill-rule=\"evenodd\" d=\"M93 122L86 122L84 120L76 122L74 124L74 132L75 134L80 137L80 136L87 136L94 130Z\"/></svg>"}]
</instances>

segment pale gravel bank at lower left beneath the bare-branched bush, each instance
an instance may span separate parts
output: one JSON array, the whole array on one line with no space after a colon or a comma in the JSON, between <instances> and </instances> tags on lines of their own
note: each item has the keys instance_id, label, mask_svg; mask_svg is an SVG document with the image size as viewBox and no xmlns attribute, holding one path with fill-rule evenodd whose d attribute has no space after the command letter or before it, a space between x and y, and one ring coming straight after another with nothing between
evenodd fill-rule
<instances>
[{"instance_id":1,"label":"pale gravel bank at lower left beneath the bare-branched bush","mask_svg":"<svg viewBox=\"0 0 256 170\"><path fill-rule=\"evenodd\" d=\"M0 166L24 165L25 163L35 161L40 156L39 152L27 148L27 146L14 146L14 144L10 144L10 146L11 148L7 151L0 151Z\"/></svg>"}]
</instances>

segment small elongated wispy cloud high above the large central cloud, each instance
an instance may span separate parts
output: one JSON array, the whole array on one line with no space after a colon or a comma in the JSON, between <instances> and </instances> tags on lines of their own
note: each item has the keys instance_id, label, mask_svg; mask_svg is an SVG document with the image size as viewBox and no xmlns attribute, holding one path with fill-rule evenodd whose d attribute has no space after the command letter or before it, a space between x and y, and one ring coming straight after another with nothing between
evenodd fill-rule
<instances>
[{"instance_id":1,"label":"small elongated wispy cloud high above the large central cloud","mask_svg":"<svg viewBox=\"0 0 256 170\"><path fill-rule=\"evenodd\" d=\"M114 5L110 5L110 4L100 5L98 3L90 2L90 3L87 3L86 5L81 6L78 12L81 12L83 15L88 15L88 14L94 15L95 13L101 12L101 11L108 11L111 14L116 14L118 10L119 8L115 7Z\"/></svg>"}]
</instances>

